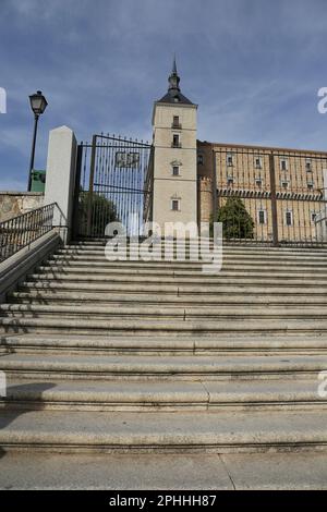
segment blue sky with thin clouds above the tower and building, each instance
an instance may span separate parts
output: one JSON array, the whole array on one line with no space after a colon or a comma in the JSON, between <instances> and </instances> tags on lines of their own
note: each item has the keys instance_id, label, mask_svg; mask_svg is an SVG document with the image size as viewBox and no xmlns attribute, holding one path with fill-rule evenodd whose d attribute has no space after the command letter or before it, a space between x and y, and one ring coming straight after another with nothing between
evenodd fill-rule
<instances>
[{"instance_id":1,"label":"blue sky with thin clouds above the tower and building","mask_svg":"<svg viewBox=\"0 0 327 512\"><path fill-rule=\"evenodd\" d=\"M327 150L326 0L0 0L0 190L25 190L33 115L78 141L150 138L175 51L182 92L198 103L198 138Z\"/></svg>"}]
</instances>

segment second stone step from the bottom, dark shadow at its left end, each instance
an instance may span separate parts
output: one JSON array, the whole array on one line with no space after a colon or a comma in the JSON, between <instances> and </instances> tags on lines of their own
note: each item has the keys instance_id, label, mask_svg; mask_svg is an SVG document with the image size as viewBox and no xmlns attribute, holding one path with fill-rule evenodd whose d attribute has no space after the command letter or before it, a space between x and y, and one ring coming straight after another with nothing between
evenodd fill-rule
<instances>
[{"instance_id":1,"label":"second stone step from the bottom, dark shadow at its left end","mask_svg":"<svg viewBox=\"0 0 327 512\"><path fill-rule=\"evenodd\" d=\"M323 410L315 380L56 381L10 380L2 410L31 411Z\"/></svg>"}]
</instances>

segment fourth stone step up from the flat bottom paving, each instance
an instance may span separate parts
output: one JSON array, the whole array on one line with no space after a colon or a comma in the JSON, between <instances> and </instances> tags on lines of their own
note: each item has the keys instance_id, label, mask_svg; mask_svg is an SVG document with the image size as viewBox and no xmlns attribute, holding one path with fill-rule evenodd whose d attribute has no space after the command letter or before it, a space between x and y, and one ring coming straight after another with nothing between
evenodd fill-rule
<instances>
[{"instance_id":1,"label":"fourth stone step up from the flat bottom paving","mask_svg":"<svg viewBox=\"0 0 327 512\"><path fill-rule=\"evenodd\" d=\"M325 354L327 336L76 336L76 334L2 334L2 353L43 352L125 355L242 355L242 354Z\"/></svg>"}]
</instances>

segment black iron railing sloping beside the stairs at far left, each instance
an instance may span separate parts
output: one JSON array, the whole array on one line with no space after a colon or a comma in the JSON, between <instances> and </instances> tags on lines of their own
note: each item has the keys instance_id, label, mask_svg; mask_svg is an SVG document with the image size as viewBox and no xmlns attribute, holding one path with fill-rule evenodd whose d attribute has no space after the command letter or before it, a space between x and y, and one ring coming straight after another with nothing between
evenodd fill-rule
<instances>
[{"instance_id":1,"label":"black iron railing sloping beside the stairs at far left","mask_svg":"<svg viewBox=\"0 0 327 512\"><path fill-rule=\"evenodd\" d=\"M56 203L0 222L0 261L52 229Z\"/></svg>"}]
</instances>

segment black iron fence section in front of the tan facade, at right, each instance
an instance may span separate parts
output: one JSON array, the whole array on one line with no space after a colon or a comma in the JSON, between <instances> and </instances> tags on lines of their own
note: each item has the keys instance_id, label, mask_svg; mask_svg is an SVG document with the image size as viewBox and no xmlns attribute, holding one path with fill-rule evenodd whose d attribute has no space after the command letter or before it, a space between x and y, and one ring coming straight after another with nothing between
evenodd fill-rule
<instances>
[{"instance_id":1,"label":"black iron fence section in front of the tan facade, at right","mask_svg":"<svg viewBox=\"0 0 327 512\"><path fill-rule=\"evenodd\" d=\"M327 244L327 155L215 149L216 220L230 243Z\"/></svg>"}]
</instances>

